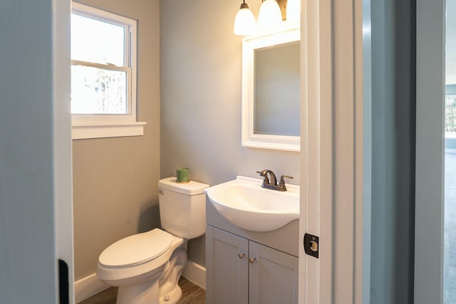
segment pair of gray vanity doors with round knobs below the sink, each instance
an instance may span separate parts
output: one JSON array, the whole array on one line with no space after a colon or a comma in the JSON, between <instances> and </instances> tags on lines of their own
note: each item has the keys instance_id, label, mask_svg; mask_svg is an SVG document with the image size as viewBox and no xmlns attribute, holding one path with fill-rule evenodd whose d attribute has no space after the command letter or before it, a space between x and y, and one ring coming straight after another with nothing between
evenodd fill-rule
<instances>
[{"instance_id":1,"label":"pair of gray vanity doors with round knobs below the sink","mask_svg":"<svg viewBox=\"0 0 456 304\"><path fill-rule=\"evenodd\" d=\"M209 225L206 241L207 304L298 303L298 258Z\"/></svg>"}]
</instances>

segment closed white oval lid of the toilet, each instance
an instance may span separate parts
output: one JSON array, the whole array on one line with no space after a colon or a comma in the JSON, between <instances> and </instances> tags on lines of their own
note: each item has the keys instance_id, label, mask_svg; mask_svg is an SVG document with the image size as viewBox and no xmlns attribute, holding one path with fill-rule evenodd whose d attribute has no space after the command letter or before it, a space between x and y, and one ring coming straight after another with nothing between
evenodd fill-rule
<instances>
[{"instance_id":1,"label":"closed white oval lid of the toilet","mask_svg":"<svg viewBox=\"0 0 456 304\"><path fill-rule=\"evenodd\" d=\"M161 256L171 247L172 235L161 229L128 236L106 248L98 261L103 266L133 266Z\"/></svg>"}]
</instances>

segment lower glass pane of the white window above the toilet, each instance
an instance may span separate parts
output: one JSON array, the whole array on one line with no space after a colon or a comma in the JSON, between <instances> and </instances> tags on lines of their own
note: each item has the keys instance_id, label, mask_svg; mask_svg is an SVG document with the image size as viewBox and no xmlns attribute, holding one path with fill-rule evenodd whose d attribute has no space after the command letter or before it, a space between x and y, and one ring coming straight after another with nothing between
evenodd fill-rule
<instances>
[{"instance_id":1,"label":"lower glass pane of the white window above the toilet","mask_svg":"<svg viewBox=\"0 0 456 304\"><path fill-rule=\"evenodd\" d=\"M73 114L128 114L127 73L71 65Z\"/></svg>"}]
</instances>

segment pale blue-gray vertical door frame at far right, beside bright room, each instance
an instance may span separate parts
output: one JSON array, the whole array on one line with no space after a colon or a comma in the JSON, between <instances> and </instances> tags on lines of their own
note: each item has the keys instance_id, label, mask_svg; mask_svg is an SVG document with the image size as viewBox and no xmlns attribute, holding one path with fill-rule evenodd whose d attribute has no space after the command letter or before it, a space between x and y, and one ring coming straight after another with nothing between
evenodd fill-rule
<instances>
[{"instance_id":1,"label":"pale blue-gray vertical door frame at far right, beside bright room","mask_svg":"<svg viewBox=\"0 0 456 304\"><path fill-rule=\"evenodd\" d=\"M425 304L443 300L445 0L416 6L414 298Z\"/></svg>"}]
</instances>

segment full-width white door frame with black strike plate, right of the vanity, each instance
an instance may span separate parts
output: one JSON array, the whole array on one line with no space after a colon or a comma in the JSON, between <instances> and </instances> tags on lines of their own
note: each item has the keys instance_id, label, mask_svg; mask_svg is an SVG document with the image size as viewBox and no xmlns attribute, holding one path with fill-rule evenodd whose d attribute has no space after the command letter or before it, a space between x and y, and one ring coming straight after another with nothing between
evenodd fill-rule
<instances>
[{"instance_id":1,"label":"full-width white door frame with black strike plate, right of the vanity","mask_svg":"<svg viewBox=\"0 0 456 304\"><path fill-rule=\"evenodd\" d=\"M369 268L363 257L370 257L370 233L363 234L363 226L370 227L364 222L370 201L363 199L369 181L363 181L362 4L301 1L300 240L305 233L320 237L318 259L306 256L300 242L301 304L361 304L363 288L369 291L370 274L363 273Z\"/></svg>"}]
</instances>

